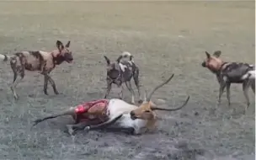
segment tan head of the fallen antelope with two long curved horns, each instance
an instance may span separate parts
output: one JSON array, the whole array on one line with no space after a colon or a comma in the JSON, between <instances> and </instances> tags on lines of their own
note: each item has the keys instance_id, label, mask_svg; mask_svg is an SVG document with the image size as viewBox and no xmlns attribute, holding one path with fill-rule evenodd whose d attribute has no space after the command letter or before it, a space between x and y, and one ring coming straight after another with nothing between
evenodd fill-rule
<instances>
[{"instance_id":1,"label":"tan head of the fallen antelope with two long curved horns","mask_svg":"<svg viewBox=\"0 0 256 160\"><path fill-rule=\"evenodd\" d=\"M130 112L131 119L136 120L136 119L141 119L141 120L152 120L156 118L156 114L154 113L154 110L168 110L168 111L173 111L173 110L179 110L183 108L189 101L189 97L186 99L184 104L180 106L179 108L176 109L164 109L164 108L158 108L156 104L154 104L151 100L152 94L158 89L163 87L164 84L167 84L170 82L170 80L173 78L174 74L168 78L165 82L159 84L156 88L152 90L151 93L145 95L144 102L137 108L134 109Z\"/></svg>"}]
</instances>

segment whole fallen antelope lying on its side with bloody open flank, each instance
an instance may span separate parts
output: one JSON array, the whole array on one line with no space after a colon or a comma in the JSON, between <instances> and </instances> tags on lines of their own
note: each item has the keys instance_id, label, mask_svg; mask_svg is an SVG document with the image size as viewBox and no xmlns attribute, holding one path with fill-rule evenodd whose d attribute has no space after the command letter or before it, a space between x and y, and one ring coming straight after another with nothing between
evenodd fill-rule
<instances>
[{"instance_id":1,"label":"whole fallen antelope lying on its side with bloody open flank","mask_svg":"<svg viewBox=\"0 0 256 160\"><path fill-rule=\"evenodd\" d=\"M109 128L114 131L125 131L131 134L141 134L142 132L153 130L156 126L157 115L154 110L167 110L174 111L183 108L189 101L189 97L185 100L184 104L174 109L164 109L157 107L152 103L152 94L158 89L167 84L173 75L165 82L159 84L156 88L152 89L148 97L145 95L145 100L140 106L128 104L121 99L99 99L92 102L87 102L77 107L64 110L61 113L46 116L42 119L35 120L35 124L41 121L56 118L61 115L72 115L76 120L75 125L67 125L67 129L71 135L77 130L96 130ZM96 121L88 119L84 121L85 117L98 117Z\"/></svg>"}]
</instances>

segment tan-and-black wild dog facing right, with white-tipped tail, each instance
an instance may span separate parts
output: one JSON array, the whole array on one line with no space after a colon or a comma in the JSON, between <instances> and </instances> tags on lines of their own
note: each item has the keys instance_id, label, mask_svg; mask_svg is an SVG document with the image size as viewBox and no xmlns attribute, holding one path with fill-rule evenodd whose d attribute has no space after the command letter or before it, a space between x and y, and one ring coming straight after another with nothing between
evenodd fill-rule
<instances>
[{"instance_id":1,"label":"tan-and-black wild dog facing right, with white-tipped tail","mask_svg":"<svg viewBox=\"0 0 256 160\"><path fill-rule=\"evenodd\" d=\"M32 72L40 71L40 74L45 76L44 93L48 95L47 86L48 82L50 82L54 93L58 94L59 92L56 89L56 84L49 74L56 65L60 65L63 61L67 61L68 63L72 62L73 56L72 51L69 51L69 46L70 41L68 41L67 45L64 46L61 41L57 40L57 49L50 52L20 51L15 53L13 56L0 54L0 58L3 59L3 61L10 61L13 69L13 83L10 88L13 92L14 99L18 99L15 88L24 78L25 70Z\"/></svg>"}]
</instances>

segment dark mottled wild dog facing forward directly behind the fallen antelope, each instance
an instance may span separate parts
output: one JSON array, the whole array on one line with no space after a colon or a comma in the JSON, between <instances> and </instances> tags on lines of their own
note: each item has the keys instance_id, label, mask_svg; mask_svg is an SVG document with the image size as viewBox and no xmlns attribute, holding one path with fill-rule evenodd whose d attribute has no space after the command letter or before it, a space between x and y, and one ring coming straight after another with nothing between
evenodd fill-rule
<instances>
[{"instance_id":1,"label":"dark mottled wild dog facing forward directly behind the fallen antelope","mask_svg":"<svg viewBox=\"0 0 256 160\"><path fill-rule=\"evenodd\" d=\"M131 92L131 103L135 104L134 100L134 90L131 87L131 77L133 77L136 88L138 89L141 103L141 91L139 86L139 68L136 67L135 62L133 61L133 56L129 52L123 52L116 61L110 62L107 56L104 56L107 61L107 89L104 96L104 99L107 98L111 90L112 83L115 83L118 88L121 87L120 99L123 99L123 87L122 83L125 83L126 87ZM122 60L122 58L129 58L128 60Z\"/></svg>"}]
</instances>

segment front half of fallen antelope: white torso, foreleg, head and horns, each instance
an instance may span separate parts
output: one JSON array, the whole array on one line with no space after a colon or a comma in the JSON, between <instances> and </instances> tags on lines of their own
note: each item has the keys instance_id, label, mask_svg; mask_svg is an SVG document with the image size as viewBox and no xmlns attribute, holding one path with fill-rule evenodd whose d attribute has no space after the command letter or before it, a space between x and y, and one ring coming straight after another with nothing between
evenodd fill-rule
<instances>
[{"instance_id":1,"label":"front half of fallen antelope: white torso, foreleg, head and horns","mask_svg":"<svg viewBox=\"0 0 256 160\"><path fill-rule=\"evenodd\" d=\"M152 131L156 127L157 115L155 110L167 110L174 111L183 108L189 101L186 99L183 105L175 109L163 109L158 108L156 104L152 103L152 94L158 89L167 84L173 75L168 78L165 82L159 84L156 88L149 93L148 97L140 106L133 104L128 104L121 99L110 99L109 101L109 120L99 124L99 125L88 125L85 127L85 131L101 129L101 128L111 128L126 131L131 134L141 134L145 131Z\"/></svg>"}]
</instances>

